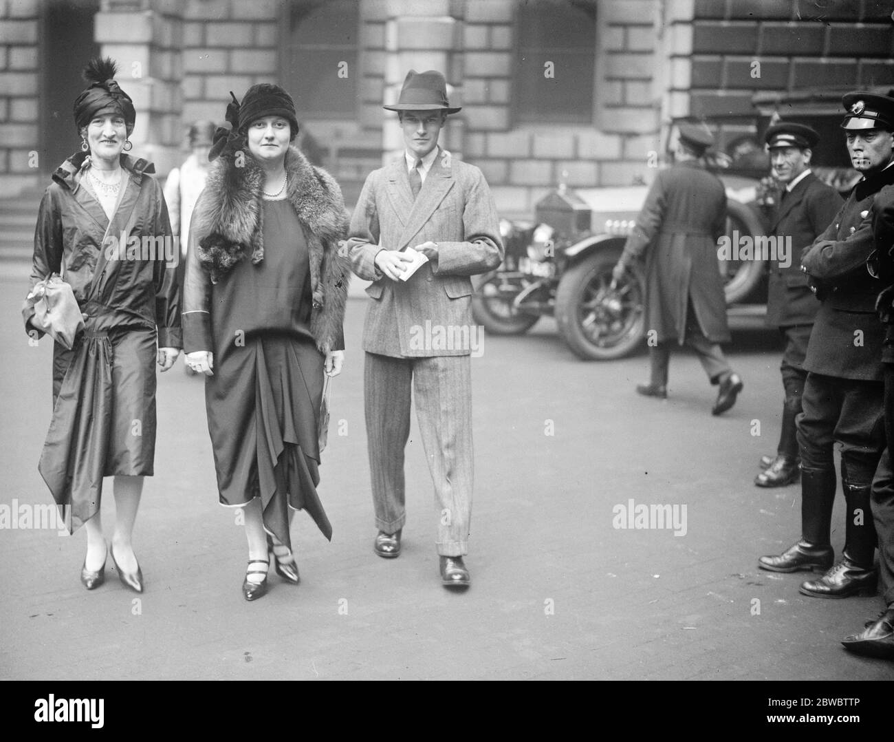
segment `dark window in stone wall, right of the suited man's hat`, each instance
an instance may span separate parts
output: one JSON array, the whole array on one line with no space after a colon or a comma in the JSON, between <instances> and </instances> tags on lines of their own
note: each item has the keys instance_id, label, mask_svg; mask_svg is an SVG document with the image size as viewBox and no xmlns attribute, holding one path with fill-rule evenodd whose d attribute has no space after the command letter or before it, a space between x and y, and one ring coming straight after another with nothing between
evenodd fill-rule
<instances>
[{"instance_id":1,"label":"dark window in stone wall, right of the suited man's hat","mask_svg":"<svg viewBox=\"0 0 894 742\"><path fill-rule=\"evenodd\" d=\"M516 120L591 124L595 0L527 0L519 4L515 38Z\"/></svg>"}]
</instances>

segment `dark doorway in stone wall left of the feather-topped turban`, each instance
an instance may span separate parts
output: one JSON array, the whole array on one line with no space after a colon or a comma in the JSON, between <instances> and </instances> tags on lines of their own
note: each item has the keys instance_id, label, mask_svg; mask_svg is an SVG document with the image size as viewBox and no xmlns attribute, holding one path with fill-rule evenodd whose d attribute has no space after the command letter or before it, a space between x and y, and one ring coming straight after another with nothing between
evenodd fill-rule
<instances>
[{"instance_id":1,"label":"dark doorway in stone wall left of the feather-topped turban","mask_svg":"<svg viewBox=\"0 0 894 742\"><path fill-rule=\"evenodd\" d=\"M52 174L80 146L72 105L86 83L80 71L99 54L99 0L46 0L40 17L40 171Z\"/></svg>"}]
</instances>

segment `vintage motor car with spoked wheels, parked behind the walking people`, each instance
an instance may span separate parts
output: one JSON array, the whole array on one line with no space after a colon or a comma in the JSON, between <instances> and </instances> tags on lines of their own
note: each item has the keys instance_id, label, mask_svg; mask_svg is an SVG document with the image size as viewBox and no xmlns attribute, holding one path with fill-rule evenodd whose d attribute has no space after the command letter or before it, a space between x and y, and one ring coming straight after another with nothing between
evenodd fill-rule
<instances>
[{"instance_id":1,"label":"vintage motor car with spoked wheels, parked behind the walking people","mask_svg":"<svg viewBox=\"0 0 894 742\"><path fill-rule=\"evenodd\" d=\"M814 173L847 192L858 175L850 168L838 125L844 90L786 96L758 94L755 115L707 122L721 147L707 153L708 167L727 192L729 243L764 241L779 185L769 177L763 132L785 120L808 124L826 146L814 152ZM723 145L725 143L725 146ZM472 311L496 335L519 335L543 316L554 316L569 348L584 360L611 360L632 353L645 335L645 280L634 266L612 283L611 269L645 201L645 185L571 189L560 184L536 204L530 221L501 220L506 257L499 269L477 277ZM722 238L721 238L722 239ZM730 316L766 311L769 254L719 253ZM797 260L798 256L793 256Z\"/></svg>"}]
</instances>

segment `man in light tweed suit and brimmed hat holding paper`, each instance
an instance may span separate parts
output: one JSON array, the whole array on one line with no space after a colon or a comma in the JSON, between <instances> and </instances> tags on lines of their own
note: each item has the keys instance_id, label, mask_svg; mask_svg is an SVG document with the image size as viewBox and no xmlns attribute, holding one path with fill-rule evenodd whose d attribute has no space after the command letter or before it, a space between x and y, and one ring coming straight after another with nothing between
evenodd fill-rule
<instances>
[{"instance_id":1,"label":"man in light tweed suit and brimmed hat holding paper","mask_svg":"<svg viewBox=\"0 0 894 742\"><path fill-rule=\"evenodd\" d=\"M375 553L401 553L404 448L411 389L437 507L441 579L469 584L472 505L470 276L495 269L503 248L493 198L477 167L437 146L450 107L440 72L410 70L394 106L404 156L371 173L350 222L351 266L373 301L363 328ZM412 250L426 256L406 280ZM408 251L410 251L408 253Z\"/></svg>"}]
</instances>

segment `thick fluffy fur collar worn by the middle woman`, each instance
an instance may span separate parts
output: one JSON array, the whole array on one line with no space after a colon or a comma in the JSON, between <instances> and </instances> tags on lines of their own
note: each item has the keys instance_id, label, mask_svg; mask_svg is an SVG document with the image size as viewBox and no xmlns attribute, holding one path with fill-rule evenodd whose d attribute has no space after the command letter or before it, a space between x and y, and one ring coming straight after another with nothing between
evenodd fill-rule
<instances>
[{"instance_id":1,"label":"thick fluffy fur collar worn by the middle woman","mask_svg":"<svg viewBox=\"0 0 894 742\"><path fill-rule=\"evenodd\" d=\"M265 175L247 150L224 149L211 166L192 217L198 261L212 283L249 256L255 265L264 260ZM299 149L289 148L285 171L288 199L308 239L313 292L310 329L316 346L327 353L342 347L350 262L339 248L348 233L348 214L338 183L325 170L310 165Z\"/></svg>"}]
</instances>

